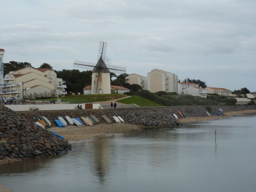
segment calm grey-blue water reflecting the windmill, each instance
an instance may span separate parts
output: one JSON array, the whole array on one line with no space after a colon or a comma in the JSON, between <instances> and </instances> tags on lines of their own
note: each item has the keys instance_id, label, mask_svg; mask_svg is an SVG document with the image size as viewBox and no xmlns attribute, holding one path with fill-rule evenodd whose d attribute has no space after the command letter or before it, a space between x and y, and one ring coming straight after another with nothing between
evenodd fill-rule
<instances>
[{"instance_id":1,"label":"calm grey-blue water reflecting the windmill","mask_svg":"<svg viewBox=\"0 0 256 192\"><path fill-rule=\"evenodd\" d=\"M239 116L74 142L62 156L0 165L0 184L14 192L255 192L255 123L256 115Z\"/></svg>"}]
</instances>

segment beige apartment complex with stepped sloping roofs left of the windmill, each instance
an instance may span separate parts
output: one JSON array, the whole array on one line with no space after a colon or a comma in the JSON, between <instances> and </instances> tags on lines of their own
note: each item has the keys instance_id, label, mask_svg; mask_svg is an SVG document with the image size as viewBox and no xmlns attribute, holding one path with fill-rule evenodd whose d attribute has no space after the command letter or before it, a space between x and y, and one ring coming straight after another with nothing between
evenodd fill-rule
<instances>
[{"instance_id":1,"label":"beige apartment complex with stepped sloping roofs left of the windmill","mask_svg":"<svg viewBox=\"0 0 256 192\"><path fill-rule=\"evenodd\" d=\"M65 81L57 78L57 74L46 68L35 69L31 67L21 68L12 71L4 76L4 84L2 85L2 94L9 94L13 97L19 95L20 98L31 93L50 93L52 90L59 94L67 94L65 91L67 86ZM22 91L23 90L23 91Z\"/></svg>"}]
</instances>

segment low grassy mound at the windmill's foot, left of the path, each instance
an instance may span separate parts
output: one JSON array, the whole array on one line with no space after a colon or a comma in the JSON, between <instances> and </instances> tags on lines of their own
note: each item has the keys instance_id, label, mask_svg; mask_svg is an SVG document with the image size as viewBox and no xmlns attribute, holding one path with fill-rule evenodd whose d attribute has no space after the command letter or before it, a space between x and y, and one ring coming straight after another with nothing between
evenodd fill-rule
<instances>
[{"instance_id":1,"label":"low grassy mound at the windmill's foot, left of the path","mask_svg":"<svg viewBox=\"0 0 256 192\"><path fill-rule=\"evenodd\" d=\"M108 100L119 99L122 97L126 97L126 95L123 95L123 94L94 94L94 95L91 95L91 102L108 101ZM42 101L52 101L52 100L57 101L57 98L42 99ZM90 102L90 95L72 95L72 96L61 97L61 102L69 102L70 104L88 103L88 102Z\"/></svg>"}]
</instances>

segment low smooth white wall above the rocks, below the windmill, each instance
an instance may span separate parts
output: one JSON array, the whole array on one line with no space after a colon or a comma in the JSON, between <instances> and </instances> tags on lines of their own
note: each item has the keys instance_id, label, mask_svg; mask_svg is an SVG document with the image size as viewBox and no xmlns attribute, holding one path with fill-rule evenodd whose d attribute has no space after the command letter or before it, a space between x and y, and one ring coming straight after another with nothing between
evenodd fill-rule
<instances>
[{"instance_id":1,"label":"low smooth white wall above the rocks, below the windmill","mask_svg":"<svg viewBox=\"0 0 256 192\"><path fill-rule=\"evenodd\" d=\"M68 109L75 109L75 107L78 104L44 104L44 105L4 105L5 107L8 107L12 109L13 111L31 111L30 107L36 107L38 108L38 111L43 110L68 110ZM85 109L85 104L79 104L79 106L82 105L82 108ZM93 103L92 108L93 109L99 109L101 107L98 103Z\"/></svg>"}]
</instances>

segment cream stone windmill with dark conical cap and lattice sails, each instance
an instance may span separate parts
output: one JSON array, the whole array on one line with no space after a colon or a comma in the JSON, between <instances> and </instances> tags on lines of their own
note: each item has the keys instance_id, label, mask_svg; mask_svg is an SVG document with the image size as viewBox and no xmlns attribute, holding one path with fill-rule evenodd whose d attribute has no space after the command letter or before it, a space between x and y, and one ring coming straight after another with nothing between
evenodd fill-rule
<instances>
[{"instance_id":1,"label":"cream stone windmill with dark conical cap and lattice sails","mask_svg":"<svg viewBox=\"0 0 256 192\"><path fill-rule=\"evenodd\" d=\"M125 67L114 65L106 65L105 58L107 52L107 43L100 42L98 62L95 65L93 62L77 61L74 62L74 67L92 70L92 94L110 94L110 72L115 74L125 73Z\"/></svg>"}]
</instances>

